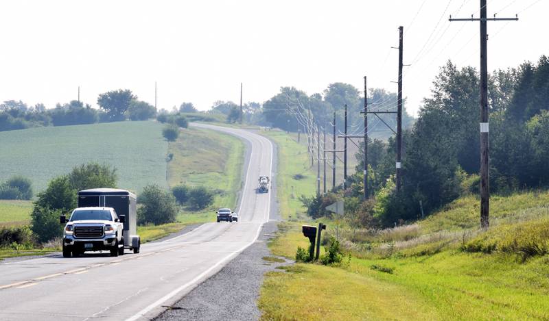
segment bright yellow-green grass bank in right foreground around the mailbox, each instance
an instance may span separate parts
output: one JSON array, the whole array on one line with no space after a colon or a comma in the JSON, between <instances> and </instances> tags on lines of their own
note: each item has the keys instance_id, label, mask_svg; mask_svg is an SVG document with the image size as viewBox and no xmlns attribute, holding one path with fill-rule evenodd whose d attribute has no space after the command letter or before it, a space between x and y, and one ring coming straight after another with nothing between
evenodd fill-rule
<instances>
[{"instance_id":1,"label":"bright yellow-green grass bank in right foreground around the mailbox","mask_svg":"<svg viewBox=\"0 0 549 321\"><path fill-rule=\"evenodd\" d=\"M283 142L279 153L292 155L295 146L274 135ZM288 181L295 168L282 167L279 175ZM281 209L294 204L300 210L289 193L279 192L279 198ZM549 320L549 192L493 196L487 232L478 229L478 203L465 196L425 220L393 229L342 224L342 247L353 253L349 266L295 264L268 273L261 318ZM335 222L323 222L324 235L336 235ZM279 224L269 244L272 255L294 259L298 246L307 248L303 223L311 221Z\"/></svg>"}]
</instances>

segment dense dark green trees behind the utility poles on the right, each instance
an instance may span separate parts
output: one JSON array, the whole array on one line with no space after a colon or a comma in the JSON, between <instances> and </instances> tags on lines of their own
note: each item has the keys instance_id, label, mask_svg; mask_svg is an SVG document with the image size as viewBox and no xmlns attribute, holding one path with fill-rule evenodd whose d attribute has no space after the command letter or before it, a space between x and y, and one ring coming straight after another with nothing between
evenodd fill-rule
<instances>
[{"instance_id":1,"label":"dense dark green trees behind the utility poles on the right","mask_svg":"<svg viewBox=\"0 0 549 321\"><path fill-rule=\"evenodd\" d=\"M403 132L402 188L395 191L395 140L369 140L369 199L361 201L364 143L360 164L347 190L305 198L313 216L346 195L351 219L387 227L428 215L463 194L478 193L480 107L478 70L441 67L419 116ZM549 187L549 59L525 62L489 75L490 185L499 194Z\"/></svg>"}]
</instances>

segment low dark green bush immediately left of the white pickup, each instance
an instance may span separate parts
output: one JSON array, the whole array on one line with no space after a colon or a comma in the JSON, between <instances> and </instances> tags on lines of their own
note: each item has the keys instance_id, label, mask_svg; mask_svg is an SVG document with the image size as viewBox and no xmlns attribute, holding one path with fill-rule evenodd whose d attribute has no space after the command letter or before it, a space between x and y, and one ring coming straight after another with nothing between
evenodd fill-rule
<instances>
[{"instance_id":1,"label":"low dark green bush immediately left of the white pickup","mask_svg":"<svg viewBox=\"0 0 549 321\"><path fill-rule=\"evenodd\" d=\"M67 214L61 209L34 206L30 214L32 233L39 242L47 242L63 233L63 226L59 223L59 216Z\"/></svg>"}]
</instances>

